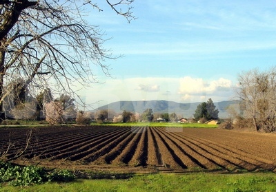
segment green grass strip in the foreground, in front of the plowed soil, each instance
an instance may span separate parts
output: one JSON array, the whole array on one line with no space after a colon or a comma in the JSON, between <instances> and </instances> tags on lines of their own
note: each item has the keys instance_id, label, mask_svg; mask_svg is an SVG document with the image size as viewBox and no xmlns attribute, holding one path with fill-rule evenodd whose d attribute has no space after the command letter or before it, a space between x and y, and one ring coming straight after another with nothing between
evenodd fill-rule
<instances>
[{"instance_id":1,"label":"green grass strip in the foreground, in front of the plowed soil","mask_svg":"<svg viewBox=\"0 0 276 192\"><path fill-rule=\"evenodd\" d=\"M126 180L77 180L28 187L2 184L0 191L276 191L275 173L244 174L152 174Z\"/></svg>"}]
</instances>

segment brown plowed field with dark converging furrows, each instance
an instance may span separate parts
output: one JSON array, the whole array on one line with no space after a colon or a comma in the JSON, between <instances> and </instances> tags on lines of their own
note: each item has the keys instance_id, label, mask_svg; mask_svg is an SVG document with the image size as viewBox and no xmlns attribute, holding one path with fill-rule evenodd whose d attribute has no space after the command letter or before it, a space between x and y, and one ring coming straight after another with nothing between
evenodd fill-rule
<instances>
[{"instance_id":1,"label":"brown plowed field with dark converging furrows","mask_svg":"<svg viewBox=\"0 0 276 192\"><path fill-rule=\"evenodd\" d=\"M1 128L8 158L26 146L30 129ZM276 135L169 127L40 127L21 160L157 171L276 171Z\"/></svg>"}]
</instances>

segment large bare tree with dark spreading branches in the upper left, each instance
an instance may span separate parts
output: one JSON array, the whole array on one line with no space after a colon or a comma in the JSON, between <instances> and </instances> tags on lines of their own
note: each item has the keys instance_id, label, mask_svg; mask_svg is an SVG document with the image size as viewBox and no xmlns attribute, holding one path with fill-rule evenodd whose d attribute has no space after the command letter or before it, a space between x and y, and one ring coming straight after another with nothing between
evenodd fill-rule
<instances>
[{"instance_id":1,"label":"large bare tree with dark spreading branches in the upper left","mask_svg":"<svg viewBox=\"0 0 276 192\"><path fill-rule=\"evenodd\" d=\"M132 16L134 0L106 0L115 13ZM91 64L98 65L107 76L112 56L103 47L101 30L83 20L89 6L100 12L97 1L90 0L2 0L0 1L0 118L3 100L10 89L4 90L14 78L22 78L24 88L51 87L53 92L72 95L72 83L83 86L97 83ZM55 89L54 89L55 88ZM30 88L29 88L30 90Z\"/></svg>"}]
</instances>

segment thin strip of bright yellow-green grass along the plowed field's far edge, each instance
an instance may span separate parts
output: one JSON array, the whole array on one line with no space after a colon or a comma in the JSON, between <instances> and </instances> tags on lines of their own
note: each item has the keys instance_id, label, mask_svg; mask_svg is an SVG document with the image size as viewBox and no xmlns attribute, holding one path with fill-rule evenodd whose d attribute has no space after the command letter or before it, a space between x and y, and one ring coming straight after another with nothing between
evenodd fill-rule
<instances>
[{"instance_id":1,"label":"thin strip of bright yellow-green grass along the plowed field's far edge","mask_svg":"<svg viewBox=\"0 0 276 192\"><path fill-rule=\"evenodd\" d=\"M190 127L190 128L217 128L218 125L207 125L202 123L177 123L177 122L126 122L113 123L103 122L101 124L92 123L92 125L108 126L151 126L151 127Z\"/></svg>"}]
</instances>

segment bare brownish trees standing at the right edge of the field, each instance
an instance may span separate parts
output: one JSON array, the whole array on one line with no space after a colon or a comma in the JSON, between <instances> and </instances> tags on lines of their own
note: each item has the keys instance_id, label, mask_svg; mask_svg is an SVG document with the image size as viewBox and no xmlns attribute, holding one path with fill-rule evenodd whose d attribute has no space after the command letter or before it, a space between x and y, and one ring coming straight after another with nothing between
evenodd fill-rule
<instances>
[{"instance_id":1,"label":"bare brownish trees standing at the right edge of the field","mask_svg":"<svg viewBox=\"0 0 276 192\"><path fill-rule=\"evenodd\" d=\"M255 130L276 130L276 67L267 72L250 70L239 74L237 94L244 116L252 119Z\"/></svg>"}]
</instances>

